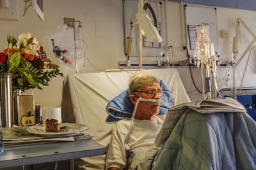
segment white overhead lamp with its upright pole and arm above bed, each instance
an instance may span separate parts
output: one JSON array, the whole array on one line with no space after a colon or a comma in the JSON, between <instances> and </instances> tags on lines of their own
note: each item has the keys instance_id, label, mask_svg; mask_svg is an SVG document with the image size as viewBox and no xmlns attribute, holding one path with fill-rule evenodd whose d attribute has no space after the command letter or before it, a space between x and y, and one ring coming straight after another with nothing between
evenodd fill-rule
<instances>
[{"instance_id":1,"label":"white overhead lamp with its upright pole and arm above bed","mask_svg":"<svg viewBox=\"0 0 256 170\"><path fill-rule=\"evenodd\" d=\"M131 52L131 44L132 44L132 27L136 24L139 25L139 34L138 34L138 57L139 57L139 68L142 68L142 43L141 43L141 35L145 36L148 41L153 43L160 43L162 38L157 31L157 19L154 13L153 8L150 4L145 3L143 6L143 0L140 0L138 3L138 13L136 13L135 18L130 21L130 30L129 30L129 37L127 38L127 46L126 46L126 53L127 53L127 65L129 66L129 54ZM150 10L152 13L152 17L154 18L154 24L152 24L151 19L148 17L146 10Z\"/></svg>"}]
</instances>

